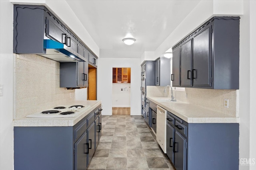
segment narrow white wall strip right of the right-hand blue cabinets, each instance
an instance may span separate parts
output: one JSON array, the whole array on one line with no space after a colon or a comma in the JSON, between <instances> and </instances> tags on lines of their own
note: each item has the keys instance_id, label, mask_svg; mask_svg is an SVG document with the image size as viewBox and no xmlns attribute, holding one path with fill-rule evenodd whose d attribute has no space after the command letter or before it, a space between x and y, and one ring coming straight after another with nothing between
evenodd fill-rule
<instances>
[{"instance_id":1,"label":"narrow white wall strip right of the right-hand blue cabinets","mask_svg":"<svg viewBox=\"0 0 256 170\"><path fill-rule=\"evenodd\" d=\"M240 16L240 80L239 80L239 157L250 157L250 1L244 1L244 15ZM255 121L255 120L254 120ZM249 166L240 165L241 170Z\"/></svg>"}]
</instances>

